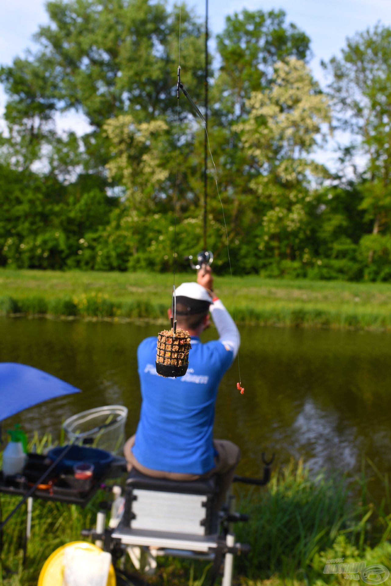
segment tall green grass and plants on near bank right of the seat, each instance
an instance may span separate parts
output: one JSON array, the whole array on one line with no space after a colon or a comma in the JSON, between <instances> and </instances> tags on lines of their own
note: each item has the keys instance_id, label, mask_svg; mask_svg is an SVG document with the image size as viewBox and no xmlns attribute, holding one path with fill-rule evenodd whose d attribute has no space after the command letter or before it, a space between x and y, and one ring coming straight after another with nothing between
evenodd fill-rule
<instances>
[{"instance_id":1,"label":"tall green grass and plants on near bank right of the seat","mask_svg":"<svg viewBox=\"0 0 391 586\"><path fill-rule=\"evenodd\" d=\"M238 526L237 536L252 546L236 564L244 583L260 584L261 578L270 584L346 584L343 576L323 574L327 560L334 558L391 570L389 484L387 476L376 474L385 488L378 504L364 472L351 493L340 475L311 478L301 462L293 461L273 475L267 490L242 495L241 512L250 521Z\"/></svg>"}]
</instances>

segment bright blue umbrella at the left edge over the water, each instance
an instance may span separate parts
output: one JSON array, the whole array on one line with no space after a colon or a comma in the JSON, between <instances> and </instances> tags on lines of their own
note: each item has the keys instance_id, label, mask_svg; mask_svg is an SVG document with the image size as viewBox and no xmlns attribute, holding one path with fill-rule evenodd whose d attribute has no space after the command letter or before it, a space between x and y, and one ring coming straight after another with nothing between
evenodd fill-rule
<instances>
[{"instance_id":1,"label":"bright blue umbrella at the left edge over the water","mask_svg":"<svg viewBox=\"0 0 391 586\"><path fill-rule=\"evenodd\" d=\"M0 421L56 397L80 393L43 370L15 362L0 363Z\"/></svg>"}]
</instances>

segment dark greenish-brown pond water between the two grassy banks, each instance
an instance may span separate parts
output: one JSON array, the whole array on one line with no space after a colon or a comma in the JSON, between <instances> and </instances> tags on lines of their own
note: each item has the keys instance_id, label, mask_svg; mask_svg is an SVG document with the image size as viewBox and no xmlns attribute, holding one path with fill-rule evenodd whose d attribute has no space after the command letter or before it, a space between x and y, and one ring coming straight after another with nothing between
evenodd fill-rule
<instances>
[{"instance_id":1,"label":"dark greenish-brown pond water between the two grassy banks","mask_svg":"<svg viewBox=\"0 0 391 586\"><path fill-rule=\"evenodd\" d=\"M238 472L258 475L263 450L277 461L303 458L311 469L350 476L368 456L380 472L391 464L391 360L387 333L242 327L242 384L237 362L222 380L215 437L242 449ZM57 437L64 419L104 404L129 409L138 423L136 348L153 323L1 318L0 361L46 370L83 393L49 401L14 417L26 431ZM205 332L205 339L216 335Z\"/></svg>"}]
</instances>

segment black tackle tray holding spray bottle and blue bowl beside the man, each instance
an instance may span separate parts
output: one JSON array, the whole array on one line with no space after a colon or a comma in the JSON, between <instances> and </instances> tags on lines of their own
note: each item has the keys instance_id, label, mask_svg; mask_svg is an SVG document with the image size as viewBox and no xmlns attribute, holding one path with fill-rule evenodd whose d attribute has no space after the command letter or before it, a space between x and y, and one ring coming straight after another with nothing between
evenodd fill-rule
<instances>
[{"instance_id":1,"label":"black tackle tray holding spray bottle and blue bowl beside the man","mask_svg":"<svg viewBox=\"0 0 391 586\"><path fill-rule=\"evenodd\" d=\"M36 454L32 454L31 456L33 456L32 459L34 461L37 461L37 468L40 468L40 475L42 475L44 472L44 458L39 458ZM29 462L26 466L28 465ZM46 468L49 468L49 465L47 465ZM125 458L114 458L114 461L100 476L92 479L91 486L88 488L88 490L80 492L80 490L76 490L71 486L67 486L64 479L59 478L58 481L52 485L50 490L37 488L31 496L35 499L55 500L58 502L80 505L84 507L101 488L103 481L110 478L118 478L119 476L122 476L125 471ZM29 485L27 479L24 483L20 482L20 480L15 477L5 479L2 471L0 472L0 493L6 493L13 496L25 496L29 492L30 488L31 486Z\"/></svg>"}]
</instances>

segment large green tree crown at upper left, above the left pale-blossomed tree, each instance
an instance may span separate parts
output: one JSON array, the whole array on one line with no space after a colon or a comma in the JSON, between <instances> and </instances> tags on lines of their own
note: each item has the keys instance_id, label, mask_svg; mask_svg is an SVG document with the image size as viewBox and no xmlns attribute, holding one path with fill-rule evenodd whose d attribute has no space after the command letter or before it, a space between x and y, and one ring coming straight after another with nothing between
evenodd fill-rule
<instances>
[{"instance_id":1,"label":"large green tree crown at upper left, above the left pale-blossomed tree","mask_svg":"<svg viewBox=\"0 0 391 586\"><path fill-rule=\"evenodd\" d=\"M12 137L8 159L18 153L23 168L31 167L59 141L54 114L76 110L91 131L73 144L74 168L82 162L85 171L105 173L102 127L109 118L176 119L179 6L168 12L162 1L52 0L46 8L50 22L35 35L37 51L0 70ZM181 62L195 98L203 91L202 51L201 25L182 6Z\"/></svg>"}]
</instances>

